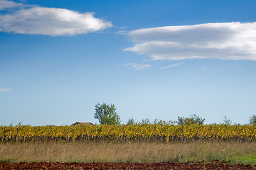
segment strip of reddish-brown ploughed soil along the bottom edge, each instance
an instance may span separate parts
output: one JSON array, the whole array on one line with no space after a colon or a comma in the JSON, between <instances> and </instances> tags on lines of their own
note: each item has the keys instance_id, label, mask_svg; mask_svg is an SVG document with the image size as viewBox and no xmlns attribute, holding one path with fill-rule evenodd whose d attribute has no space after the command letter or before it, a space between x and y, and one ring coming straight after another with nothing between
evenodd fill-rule
<instances>
[{"instance_id":1,"label":"strip of reddish-brown ploughed soil along the bottom edge","mask_svg":"<svg viewBox=\"0 0 256 170\"><path fill-rule=\"evenodd\" d=\"M251 165L229 165L225 162L187 163L1 163L0 169L256 169Z\"/></svg>"}]
</instances>

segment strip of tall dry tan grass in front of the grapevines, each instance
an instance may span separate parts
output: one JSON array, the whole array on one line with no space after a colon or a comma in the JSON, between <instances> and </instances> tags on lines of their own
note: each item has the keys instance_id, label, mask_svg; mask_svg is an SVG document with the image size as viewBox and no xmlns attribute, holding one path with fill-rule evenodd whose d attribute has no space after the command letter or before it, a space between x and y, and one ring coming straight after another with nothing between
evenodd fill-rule
<instances>
[{"instance_id":1,"label":"strip of tall dry tan grass in front of the grapevines","mask_svg":"<svg viewBox=\"0 0 256 170\"><path fill-rule=\"evenodd\" d=\"M210 162L255 153L256 142L0 144L0 162Z\"/></svg>"}]
</instances>

